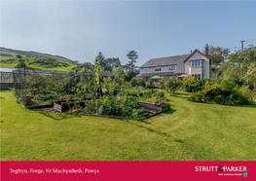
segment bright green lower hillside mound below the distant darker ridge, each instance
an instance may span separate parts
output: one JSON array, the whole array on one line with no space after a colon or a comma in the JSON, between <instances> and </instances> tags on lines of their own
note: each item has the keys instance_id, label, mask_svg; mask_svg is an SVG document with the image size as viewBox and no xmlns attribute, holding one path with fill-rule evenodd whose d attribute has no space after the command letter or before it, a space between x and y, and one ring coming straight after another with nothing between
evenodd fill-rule
<instances>
[{"instance_id":1,"label":"bright green lower hillside mound below the distant darker ridge","mask_svg":"<svg viewBox=\"0 0 256 181\"><path fill-rule=\"evenodd\" d=\"M50 69L59 71L70 71L76 67L75 63L61 61L53 57L21 57L1 60L1 67L15 68L20 60L23 60L26 66L40 69Z\"/></svg>"}]
</instances>

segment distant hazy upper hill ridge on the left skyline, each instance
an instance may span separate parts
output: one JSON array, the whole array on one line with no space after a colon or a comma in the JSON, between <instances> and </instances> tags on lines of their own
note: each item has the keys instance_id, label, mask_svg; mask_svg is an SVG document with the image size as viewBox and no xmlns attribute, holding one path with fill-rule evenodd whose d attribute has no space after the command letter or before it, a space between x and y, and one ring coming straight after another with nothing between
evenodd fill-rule
<instances>
[{"instance_id":1,"label":"distant hazy upper hill ridge on the left skyline","mask_svg":"<svg viewBox=\"0 0 256 181\"><path fill-rule=\"evenodd\" d=\"M15 58L17 54L20 54L21 56L53 57L61 61L73 62L71 59L68 59L60 55L42 54L42 53L37 53L32 51L27 52L27 51L18 51L18 50L7 49L7 48L0 48L0 55L1 55L0 60Z\"/></svg>"}]
</instances>

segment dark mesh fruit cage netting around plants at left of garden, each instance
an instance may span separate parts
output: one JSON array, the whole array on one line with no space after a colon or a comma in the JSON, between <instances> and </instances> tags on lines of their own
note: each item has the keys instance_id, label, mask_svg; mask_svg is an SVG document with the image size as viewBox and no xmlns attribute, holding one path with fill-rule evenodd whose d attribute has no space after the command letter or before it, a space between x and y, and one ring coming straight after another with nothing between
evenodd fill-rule
<instances>
[{"instance_id":1,"label":"dark mesh fruit cage netting around plants at left of garden","mask_svg":"<svg viewBox=\"0 0 256 181\"><path fill-rule=\"evenodd\" d=\"M111 76L111 75L102 75ZM14 90L18 102L24 107L52 104L55 100L66 99L79 94L91 96L95 83L94 72L61 72L22 68L13 71Z\"/></svg>"}]
</instances>

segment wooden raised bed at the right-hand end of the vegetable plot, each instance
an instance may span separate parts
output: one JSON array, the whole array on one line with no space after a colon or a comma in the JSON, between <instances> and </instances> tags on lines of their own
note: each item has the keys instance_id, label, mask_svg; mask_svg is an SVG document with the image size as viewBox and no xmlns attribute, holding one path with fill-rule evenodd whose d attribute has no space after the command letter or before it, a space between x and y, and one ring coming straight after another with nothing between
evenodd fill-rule
<instances>
[{"instance_id":1,"label":"wooden raised bed at the right-hand end of the vegetable plot","mask_svg":"<svg viewBox=\"0 0 256 181\"><path fill-rule=\"evenodd\" d=\"M170 109L169 104L166 101L162 101L162 103L164 103L164 105L158 106L149 102L138 101L138 104L141 107L144 107L148 112L152 113L163 113Z\"/></svg>"}]
</instances>

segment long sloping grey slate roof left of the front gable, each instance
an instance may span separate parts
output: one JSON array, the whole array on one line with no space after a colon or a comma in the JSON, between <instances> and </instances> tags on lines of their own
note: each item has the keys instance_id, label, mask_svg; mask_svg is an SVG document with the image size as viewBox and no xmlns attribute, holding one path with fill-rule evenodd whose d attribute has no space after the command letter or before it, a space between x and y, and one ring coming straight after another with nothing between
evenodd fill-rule
<instances>
[{"instance_id":1,"label":"long sloping grey slate roof left of the front gable","mask_svg":"<svg viewBox=\"0 0 256 181\"><path fill-rule=\"evenodd\" d=\"M183 61L187 59L187 57L190 55L191 54L181 54L167 57L152 58L143 65L141 65L140 68L183 63Z\"/></svg>"}]
</instances>

